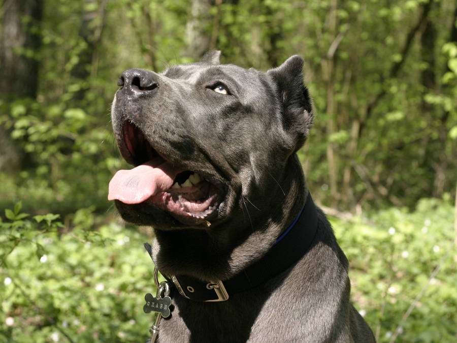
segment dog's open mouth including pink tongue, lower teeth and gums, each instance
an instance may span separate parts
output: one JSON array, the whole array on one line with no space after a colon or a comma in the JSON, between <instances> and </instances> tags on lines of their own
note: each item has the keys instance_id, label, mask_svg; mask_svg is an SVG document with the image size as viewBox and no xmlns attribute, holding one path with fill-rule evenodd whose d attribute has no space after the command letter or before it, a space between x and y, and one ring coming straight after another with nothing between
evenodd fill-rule
<instances>
[{"instance_id":1,"label":"dog's open mouth including pink tongue, lower teeth and gums","mask_svg":"<svg viewBox=\"0 0 457 343\"><path fill-rule=\"evenodd\" d=\"M119 170L109 185L108 200L148 204L175 219L205 220L218 206L214 184L197 171L185 170L162 157L134 124L125 121L120 151L135 168Z\"/></svg>"}]
</instances>

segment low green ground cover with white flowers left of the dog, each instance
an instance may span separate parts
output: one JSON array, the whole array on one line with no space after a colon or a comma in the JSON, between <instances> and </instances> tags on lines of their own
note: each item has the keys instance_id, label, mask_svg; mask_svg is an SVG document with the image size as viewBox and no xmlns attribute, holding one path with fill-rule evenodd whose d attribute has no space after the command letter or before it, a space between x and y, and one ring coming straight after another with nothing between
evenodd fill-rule
<instances>
[{"instance_id":1,"label":"low green ground cover with white flowers left of the dog","mask_svg":"<svg viewBox=\"0 0 457 343\"><path fill-rule=\"evenodd\" d=\"M153 318L143 297L155 294L142 245L150 237L103 224L93 209L66 220L69 231L59 215L30 218L20 207L0 222L0 340L145 340Z\"/></svg>"}]
</instances>

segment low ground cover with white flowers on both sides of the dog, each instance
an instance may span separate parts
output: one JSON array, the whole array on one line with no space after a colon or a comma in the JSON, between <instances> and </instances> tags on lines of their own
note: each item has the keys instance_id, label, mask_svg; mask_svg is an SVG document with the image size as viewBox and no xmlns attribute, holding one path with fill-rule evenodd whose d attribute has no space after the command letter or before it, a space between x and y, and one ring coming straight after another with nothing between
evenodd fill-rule
<instances>
[{"instance_id":1,"label":"low ground cover with white flowers on both sides of the dog","mask_svg":"<svg viewBox=\"0 0 457 343\"><path fill-rule=\"evenodd\" d=\"M14 323L1 326L0 340L64 340L62 332L78 342L148 337L143 297L155 289L142 243L150 236L93 208L69 215L66 225L54 214L26 216L20 204L8 212L15 217L0 223L0 323ZM399 341L454 341L452 220L449 201L437 199L422 199L414 212L331 219L350 261L352 301L379 342L398 327Z\"/></svg>"}]
</instances>

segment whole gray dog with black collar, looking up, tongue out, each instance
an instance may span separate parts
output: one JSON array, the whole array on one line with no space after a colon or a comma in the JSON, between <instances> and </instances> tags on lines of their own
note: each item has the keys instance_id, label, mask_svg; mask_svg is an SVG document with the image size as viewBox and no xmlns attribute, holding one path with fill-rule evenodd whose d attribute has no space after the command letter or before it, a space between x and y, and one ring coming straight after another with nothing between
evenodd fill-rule
<instances>
[{"instance_id":1,"label":"whole gray dog with black collar, looking up, tongue out","mask_svg":"<svg viewBox=\"0 0 457 343\"><path fill-rule=\"evenodd\" d=\"M263 73L219 54L127 70L112 106L135 168L116 173L109 199L153 226L153 260L174 286L158 341L374 341L296 155L313 121L303 59Z\"/></svg>"}]
</instances>

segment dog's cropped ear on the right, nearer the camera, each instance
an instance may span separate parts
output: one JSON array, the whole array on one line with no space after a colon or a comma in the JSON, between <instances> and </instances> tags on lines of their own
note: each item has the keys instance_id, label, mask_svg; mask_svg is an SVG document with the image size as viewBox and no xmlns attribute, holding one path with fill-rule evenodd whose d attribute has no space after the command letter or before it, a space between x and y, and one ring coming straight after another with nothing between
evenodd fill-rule
<instances>
[{"instance_id":1,"label":"dog's cropped ear on the right, nearer the camera","mask_svg":"<svg viewBox=\"0 0 457 343\"><path fill-rule=\"evenodd\" d=\"M313 124L313 109L308 89L303 84L303 58L294 55L267 75L276 84L283 107L283 126L295 140L294 152L305 143Z\"/></svg>"}]
</instances>

